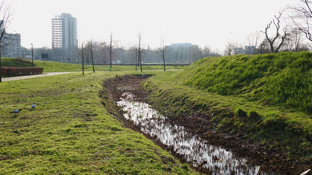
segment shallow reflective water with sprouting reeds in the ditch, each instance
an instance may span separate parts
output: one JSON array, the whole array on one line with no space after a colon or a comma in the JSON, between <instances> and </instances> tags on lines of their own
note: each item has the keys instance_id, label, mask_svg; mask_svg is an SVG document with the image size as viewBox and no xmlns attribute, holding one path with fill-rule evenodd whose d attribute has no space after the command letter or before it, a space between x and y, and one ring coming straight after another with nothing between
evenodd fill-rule
<instances>
[{"instance_id":1,"label":"shallow reflective water with sprouting reeds in the ditch","mask_svg":"<svg viewBox=\"0 0 312 175\"><path fill-rule=\"evenodd\" d=\"M125 98L120 98L117 104L123 107L127 120L141 125L142 132L169 145L172 152L183 155L194 167L200 166L212 174L256 174L257 167L248 165L246 159L235 158L232 152L207 144L183 126L170 124L165 116L149 104L134 102L135 96L132 94L124 93L123 97Z\"/></svg>"}]
</instances>

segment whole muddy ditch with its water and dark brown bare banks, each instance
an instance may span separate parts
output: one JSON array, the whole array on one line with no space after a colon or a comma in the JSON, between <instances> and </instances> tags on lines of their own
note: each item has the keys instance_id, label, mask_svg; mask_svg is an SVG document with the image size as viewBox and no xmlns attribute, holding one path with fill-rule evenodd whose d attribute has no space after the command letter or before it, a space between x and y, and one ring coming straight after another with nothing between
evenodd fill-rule
<instances>
[{"instance_id":1,"label":"whole muddy ditch with its water and dark brown bare banks","mask_svg":"<svg viewBox=\"0 0 312 175\"><path fill-rule=\"evenodd\" d=\"M99 93L103 105L126 127L142 133L198 172L300 174L311 166L288 160L286 155L266 145L253 145L243 133L216 132L216 124L211 120L213 115L218 115L216 111L177 115L163 110L162 106L151 106L148 92L140 86L142 81L128 75L106 80L102 84L105 90Z\"/></svg>"}]
</instances>

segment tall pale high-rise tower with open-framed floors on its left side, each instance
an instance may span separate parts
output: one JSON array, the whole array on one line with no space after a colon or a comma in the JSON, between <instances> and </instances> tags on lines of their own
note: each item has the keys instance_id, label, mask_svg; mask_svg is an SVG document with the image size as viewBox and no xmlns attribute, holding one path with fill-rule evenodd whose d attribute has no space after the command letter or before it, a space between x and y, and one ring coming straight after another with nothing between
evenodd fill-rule
<instances>
[{"instance_id":1,"label":"tall pale high-rise tower with open-framed floors on its left side","mask_svg":"<svg viewBox=\"0 0 312 175\"><path fill-rule=\"evenodd\" d=\"M77 18L70 13L52 18L52 49L72 51L77 45Z\"/></svg>"}]
</instances>

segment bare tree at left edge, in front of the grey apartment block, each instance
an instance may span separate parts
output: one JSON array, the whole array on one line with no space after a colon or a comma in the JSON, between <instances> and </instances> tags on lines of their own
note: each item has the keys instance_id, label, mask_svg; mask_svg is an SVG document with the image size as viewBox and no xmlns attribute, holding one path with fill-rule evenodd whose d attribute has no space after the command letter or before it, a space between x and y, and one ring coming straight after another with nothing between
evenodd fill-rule
<instances>
[{"instance_id":1,"label":"bare tree at left edge, in front of the grey apartment block","mask_svg":"<svg viewBox=\"0 0 312 175\"><path fill-rule=\"evenodd\" d=\"M2 16L2 18L0 18L0 82L2 82L1 50L5 50L6 46L10 45L15 39L15 35L6 33L6 30L12 22L14 11L15 9L12 8L12 2L9 2L8 4L5 3L5 0L0 2L0 16Z\"/></svg>"}]
</instances>

